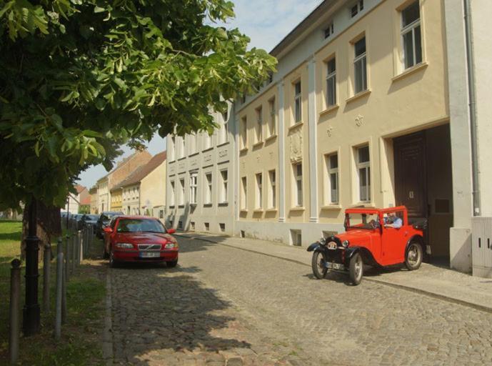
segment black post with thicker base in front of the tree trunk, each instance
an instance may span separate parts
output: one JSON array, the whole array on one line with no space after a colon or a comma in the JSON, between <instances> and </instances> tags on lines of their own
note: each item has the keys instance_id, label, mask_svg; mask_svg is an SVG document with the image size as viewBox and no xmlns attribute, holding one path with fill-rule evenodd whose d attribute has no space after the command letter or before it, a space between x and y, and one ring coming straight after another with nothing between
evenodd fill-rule
<instances>
[{"instance_id":1,"label":"black post with thicker base in front of the tree trunk","mask_svg":"<svg viewBox=\"0 0 492 366\"><path fill-rule=\"evenodd\" d=\"M25 336L39 333L39 304L38 304L38 252L39 237L37 228L36 199L29 204L29 234L26 237L26 303L24 305L23 331Z\"/></svg>"}]
</instances>

